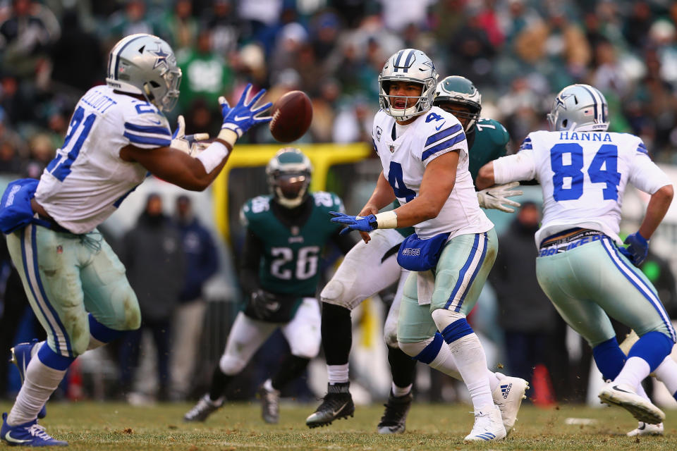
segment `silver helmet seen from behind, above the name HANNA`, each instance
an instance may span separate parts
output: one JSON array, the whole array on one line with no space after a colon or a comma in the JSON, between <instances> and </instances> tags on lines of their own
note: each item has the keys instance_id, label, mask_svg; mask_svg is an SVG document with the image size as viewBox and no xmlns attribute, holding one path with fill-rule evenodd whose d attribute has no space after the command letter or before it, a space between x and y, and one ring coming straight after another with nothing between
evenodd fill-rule
<instances>
[{"instance_id":1,"label":"silver helmet seen from behind, above the name HANNA","mask_svg":"<svg viewBox=\"0 0 677 451\"><path fill-rule=\"evenodd\" d=\"M553 131L605 132L609 128L609 106L598 89L590 85L570 85L557 94L548 122Z\"/></svg>"}]
</instances>

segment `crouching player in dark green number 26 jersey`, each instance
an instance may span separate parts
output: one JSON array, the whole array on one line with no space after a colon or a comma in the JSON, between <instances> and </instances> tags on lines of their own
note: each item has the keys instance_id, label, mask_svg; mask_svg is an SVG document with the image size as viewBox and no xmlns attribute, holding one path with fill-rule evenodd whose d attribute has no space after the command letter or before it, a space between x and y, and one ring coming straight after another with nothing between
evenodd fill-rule
<instances>
[{"instance_id":1,"label":"crouching player in dark green number 26 jersey","mask_svg":"<svg viewBox=\"0 0 677 451\"><path fill-rule=\"evenodd\" d=\"M259 389L262 416L279 419L281 388L300 376L319 352L320 313L315 298L319 259L329 242L345 254L355 244L330 223L329 211L343 211L331 192L308 192L312 167L299 149L279 150L266 173L271 194L245 202L240 218L247 229L240 283L248 303L231 327L226 350L214 369L212 385L183 417L205 421L224 403L228 383L276 328L281 328L291 354Z\"/></svg>"}]
</instances>

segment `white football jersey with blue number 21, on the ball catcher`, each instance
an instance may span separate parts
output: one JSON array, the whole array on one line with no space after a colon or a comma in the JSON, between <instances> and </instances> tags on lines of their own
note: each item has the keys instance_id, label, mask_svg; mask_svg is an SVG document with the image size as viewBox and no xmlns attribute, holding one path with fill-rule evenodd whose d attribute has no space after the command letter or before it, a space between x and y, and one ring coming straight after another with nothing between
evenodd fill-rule
<instances>
[{"instance_id":1,"label":"white football jersey with blue number 21, on the ball catcher","mask_svg":"<svg viewBox=\"0 0 677 451\"><path fill-rule=\"evenodd\" d=\"M139 163L123 161L120 149L170 142L169 123L154 105L105 85L93 87L75 106L63 146L44 169L35 199L61 226L90 232L147 175Z\"/></svg>"}]
</instances>

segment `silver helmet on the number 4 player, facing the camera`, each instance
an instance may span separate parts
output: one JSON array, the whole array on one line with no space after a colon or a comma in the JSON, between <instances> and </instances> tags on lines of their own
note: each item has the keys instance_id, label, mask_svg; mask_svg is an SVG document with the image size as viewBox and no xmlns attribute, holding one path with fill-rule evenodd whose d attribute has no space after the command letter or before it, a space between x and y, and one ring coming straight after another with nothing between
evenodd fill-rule
<instances>
[{"instance_id":1,"label":"silver helmet on the number 4 player, facing the camera","mask_svg":"<svg viewBox=\"0 0 677 451\"><path fill-rule=\"evenodd\" d=\"M391 97L395 96L389 95L389 83L393 81L416 82L423 85L421 95L417 97L414 106L407 109L393 108ZM432 108L436 86L437 70L432 60L417 49L400 50L388 58L379 75L379 106L398 121L408 121Z\"/></svg>"}]
</instances>

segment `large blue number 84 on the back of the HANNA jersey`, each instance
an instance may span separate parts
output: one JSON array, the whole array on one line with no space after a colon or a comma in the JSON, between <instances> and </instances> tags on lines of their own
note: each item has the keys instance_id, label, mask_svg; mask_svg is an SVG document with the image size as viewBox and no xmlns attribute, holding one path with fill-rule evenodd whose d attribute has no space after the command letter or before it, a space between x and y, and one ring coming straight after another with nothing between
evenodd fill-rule
<instances>
[{"instance_id":1,"label":"large blue number 84 on the back of the HANNA jersey","mask_svg":"<svg viewBox=\"0 0 677 451\"><path fill-rule=\"evenodd\" d=\"M565 155L568 161L565 164ZM556 201L574 200L583 196L583 147L575 142L561 142L550 149L550 167L555 175L552 178L552 196ZM606 183L602 190L604 200L618 200L618 147L614 144L602 144L587 168L592 183ZM568 187L565 181L570 181Z\"/></svg>"}]
</instances>

